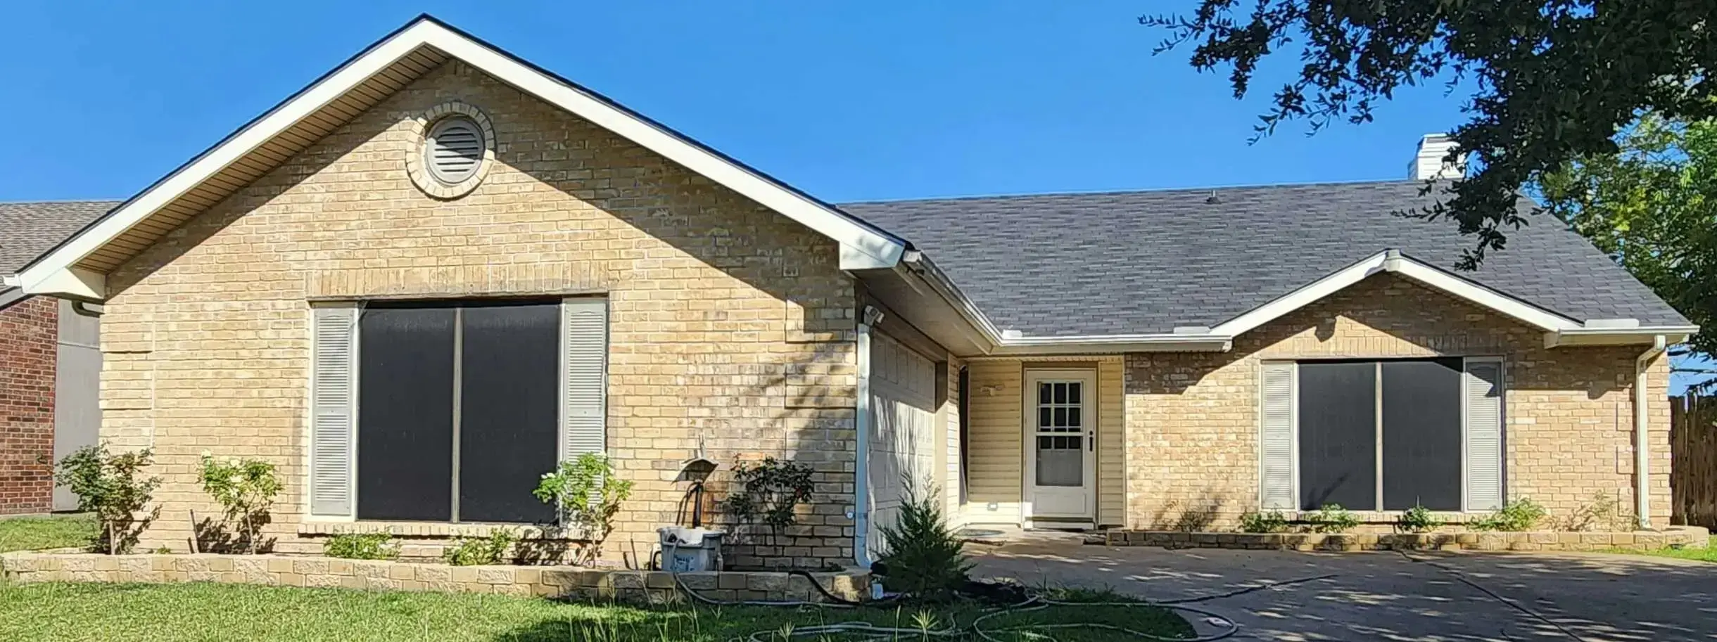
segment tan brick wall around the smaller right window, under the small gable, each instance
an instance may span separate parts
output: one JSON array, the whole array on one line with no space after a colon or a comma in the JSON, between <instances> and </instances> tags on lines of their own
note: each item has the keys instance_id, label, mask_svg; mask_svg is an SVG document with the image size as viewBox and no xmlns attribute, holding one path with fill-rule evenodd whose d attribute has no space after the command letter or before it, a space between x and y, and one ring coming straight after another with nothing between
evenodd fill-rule
<instances>
[{"instance_id":1,"label":"tan brick wall around the smaller right window, under the small gable","mask_svg":"<svg viewBox=\"0 0 1717 642\"><path fill-rule=\"evenodd\" d=\"M1224 354L1126 359L1128 527L1231 527L1257 508L1259 360L1502 355L1508 496L1552 515L1597 491L1633 506L1633 367L1643 347L1544 348L1542 331L1372 276L1235 340ZM1652 518L1669 518L1667 359L1648 376Z\"/></svg>"}]
</instances>

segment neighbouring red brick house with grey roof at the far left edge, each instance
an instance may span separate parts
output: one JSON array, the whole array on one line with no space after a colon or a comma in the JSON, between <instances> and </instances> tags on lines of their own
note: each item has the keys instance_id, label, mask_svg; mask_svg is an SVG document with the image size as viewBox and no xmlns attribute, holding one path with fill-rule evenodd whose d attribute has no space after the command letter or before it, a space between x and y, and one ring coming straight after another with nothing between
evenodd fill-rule
<instances>
[{"instance_id":1,"label":"neighbouring red brick house with grey roof at the far left edge","mask_svg":"<svg viewBox=\"0 0 1717 642\"><path fill-rule=\"evenodd\" d=\"M0 275L10 275L112 201L0 203ZM93 307L0 287L0 515L77 508L53 488L53 462L94 443L100 427Z\"/></svg>"}]
</instances>

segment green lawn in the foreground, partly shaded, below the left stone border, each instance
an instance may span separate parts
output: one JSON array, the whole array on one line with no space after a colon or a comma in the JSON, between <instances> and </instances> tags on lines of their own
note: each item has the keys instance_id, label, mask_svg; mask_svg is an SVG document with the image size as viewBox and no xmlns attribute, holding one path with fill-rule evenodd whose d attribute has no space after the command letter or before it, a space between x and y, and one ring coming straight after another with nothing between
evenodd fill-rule
<instances>
[{"instance_id":1,"label":"green lawn in the foreground, partly shaded, below the left stone border","mask_svg":"<svg viewBox=\"0 0 1717 642\"><path fill-rule=\"evenodd\" d=\"M913 627L915 608L719 608L639 609L565 604L546 599L283 589L220 584L31 584L0 585L0 640L479 640L479 642L725 642L752 632L871 621ZM970 625L982 611L972 606L932 609L937 621ZM986 628L1099 621L1161 637L1190 637L1180 616L1156 608L1056 606L1008 613ZM1056 640L1128 640L1109 630L1051 630ZM780 640L780 635L759 635ZM831 635L831 642L858 635ZM900 635L919 640L919 635ZM1039 640L1006 632L1003 640ZM795 640L819 640L797 637ZM934 640L977 640L975 635Z\"/></svg>"}]
</instances>

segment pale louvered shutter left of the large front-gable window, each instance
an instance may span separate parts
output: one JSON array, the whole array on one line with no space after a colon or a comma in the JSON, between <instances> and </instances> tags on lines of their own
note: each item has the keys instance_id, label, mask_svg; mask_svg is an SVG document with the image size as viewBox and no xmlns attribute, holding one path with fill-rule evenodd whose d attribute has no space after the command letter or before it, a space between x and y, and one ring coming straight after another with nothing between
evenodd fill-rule
<instances>
[{"instance_id":1,"label":"pale louvered shutter left of the large front-gable window","mask_svg":"<svg viewBox=\"0 0 1717 642\"><path fill-rule=\"evenodd\" d=\"M311 309L311 513L352 515L357 306Z\"/></svg>"}]
</instances>

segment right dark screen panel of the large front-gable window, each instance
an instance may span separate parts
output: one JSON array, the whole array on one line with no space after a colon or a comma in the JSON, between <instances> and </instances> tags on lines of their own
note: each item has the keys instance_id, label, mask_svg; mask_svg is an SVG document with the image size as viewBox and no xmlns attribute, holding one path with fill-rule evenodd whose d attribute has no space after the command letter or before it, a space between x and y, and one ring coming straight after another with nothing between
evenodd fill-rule
<instances>
[{"instance_id":1,"label":"right dark screen panel of the large front-gable window","mask_svg":"<svg viewBox=\"0 0 1717 642\"><path fill-rule=\"evenodd\" d=\"M553 522L531 494L558 446L560 304L469 306L460 350L460 522Z\"/></svg>"}]
</instances>

